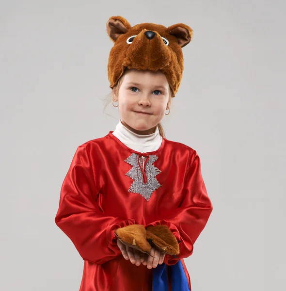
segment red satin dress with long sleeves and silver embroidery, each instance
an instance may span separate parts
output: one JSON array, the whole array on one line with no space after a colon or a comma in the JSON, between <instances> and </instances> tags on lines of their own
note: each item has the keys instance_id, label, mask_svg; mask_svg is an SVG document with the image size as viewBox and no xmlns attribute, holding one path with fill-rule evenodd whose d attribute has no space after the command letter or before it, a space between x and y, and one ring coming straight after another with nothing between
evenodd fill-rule
<instances>
[{"instance_id":1,"label":"red satin dress with long sleeves and silver embroidery","mask_svg":"<svg viewBox=\"0 0 286 291\"><path fill-rule=\"evenodd\" d=\"M142 163L144 156L145 163ZM144 164L144 165L143 165ZM132 224L167 225L190 257L212 211L197 152L163 137L158 150L140 153L110 131L79 146L61 188L55 222L84 260L80 291L152 291L147 266L123 258L114 230Z\"/></svg>"}]
</instances>

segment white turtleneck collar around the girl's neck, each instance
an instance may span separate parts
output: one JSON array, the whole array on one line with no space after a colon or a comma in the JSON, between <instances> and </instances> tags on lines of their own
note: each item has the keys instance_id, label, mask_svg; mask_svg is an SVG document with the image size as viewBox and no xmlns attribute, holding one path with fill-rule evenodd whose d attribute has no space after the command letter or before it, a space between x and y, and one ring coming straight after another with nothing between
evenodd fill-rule
<instances>
[{"instance_id":1,"label":"white turtleneck collar around the girl's neck","mask_svg":"<svg viewBox=\"0 0 286 291\"><path fill-rule=\"evenodd\" d=\"M162 136L159 134L158 126L154 133L143 135L127 129L122 124L121 120L119 120L119 123L112 134L129 148L141 153L155 151L162 143Z\"/></svg>"}]
</instances>

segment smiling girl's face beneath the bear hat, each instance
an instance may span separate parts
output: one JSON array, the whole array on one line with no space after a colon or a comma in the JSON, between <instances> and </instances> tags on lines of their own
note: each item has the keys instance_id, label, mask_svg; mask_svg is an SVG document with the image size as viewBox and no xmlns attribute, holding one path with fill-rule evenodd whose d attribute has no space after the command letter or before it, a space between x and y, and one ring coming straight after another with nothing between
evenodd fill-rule
<instances>
[{"instance_id":1,"label":"smiling girl's face beneath the bear hat","mask_svg":"<svg viewBox=\"0 0 286 291\"><path fill-rule=\"evenodd\" d=\"M160 71L129 69L118 90L118 99L114 100L118 100L123 124L140 131L152 129L161 121L168 108L169 83Z\"/></svg>"}]
</instances>

